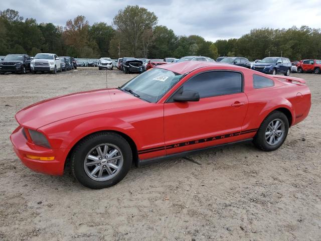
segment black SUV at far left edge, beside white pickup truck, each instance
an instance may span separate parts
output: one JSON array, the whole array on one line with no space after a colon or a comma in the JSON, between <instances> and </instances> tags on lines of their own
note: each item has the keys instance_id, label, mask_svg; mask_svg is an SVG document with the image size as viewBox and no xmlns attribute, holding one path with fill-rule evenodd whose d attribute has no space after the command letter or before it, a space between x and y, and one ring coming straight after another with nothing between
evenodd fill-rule
<instances>
[{"instance_id":1,"label":"black SUV at far left edge, beside white pickup truck","mask_svg":"<svg viewBox=\"0 0 321 241\"><path fill-rule=\"evenodd\" d=\"M8 54L0 62L0 74L6 72L26 74L30 71L31 59L27 54Z\"/></svg>"}]
</instances>

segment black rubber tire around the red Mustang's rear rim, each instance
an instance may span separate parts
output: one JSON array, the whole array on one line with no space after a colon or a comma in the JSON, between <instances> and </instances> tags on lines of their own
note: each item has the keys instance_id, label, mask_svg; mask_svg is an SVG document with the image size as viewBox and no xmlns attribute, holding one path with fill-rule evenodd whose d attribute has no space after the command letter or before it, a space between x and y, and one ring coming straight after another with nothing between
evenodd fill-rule
<instances>
[{"instance_id":1,"label":"black rubber tire around the red Mustang's rear rim","mask_svg":"<svg viewBox=\"0 0 321 241\"><path fill-rule=\"evenodd\" d=\"M283 132L280 140L276 144L271 145L268 143L268 141L265 138L266 131L267 131L267 128L270 125L270 123L272 121L275 121L276 119L281 120L283 122L284 132ZM282 146L283 142L286 139L288 130L289 130L289 122L288 122L286 115L280 111L273 111L262 122L258 132L256 133L256 135L254 137L253 143L258 149L261 149L265 152L274 151L274 150L278 149L280 146Z\"/></svg>"}]
</instances>

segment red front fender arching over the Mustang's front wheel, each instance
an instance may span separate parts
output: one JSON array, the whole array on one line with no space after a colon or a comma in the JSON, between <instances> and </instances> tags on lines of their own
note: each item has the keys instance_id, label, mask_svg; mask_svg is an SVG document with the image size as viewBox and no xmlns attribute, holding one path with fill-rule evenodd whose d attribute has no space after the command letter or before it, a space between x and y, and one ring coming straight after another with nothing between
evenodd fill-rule
<instances>
[{"instance_id":1,"label":"red front fender arching over the Mustang's front wheel","mask_svg":"<svg viewBox=\"0 0 321 241\"><path fill-rule=\"evenodd\" d=\"M137 148L141 140L137 130L120 118L110 116L72 117L39 128L47 135L53 149L71 149L82 138L100 131L115 131L127 135Z\"/></svg>"}]
</instances>

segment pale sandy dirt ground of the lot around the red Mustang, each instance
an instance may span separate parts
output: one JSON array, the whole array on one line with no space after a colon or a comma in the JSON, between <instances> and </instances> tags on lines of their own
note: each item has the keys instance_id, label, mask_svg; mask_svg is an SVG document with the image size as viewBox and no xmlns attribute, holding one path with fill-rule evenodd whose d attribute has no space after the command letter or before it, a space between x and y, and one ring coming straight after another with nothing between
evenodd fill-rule
<instances>
[{"instance_id":1,"label":"pale sandy dirt ground of the lot around the red Mustang","mask_svg":"<svg viewBox=\"0 0 321 241\"><path fill-rule=\"evenodd\" d=\"M321 240L321 75L307 81L312 107L283 146L207 151L133 167L91 190L65 170L35 173L13 152L14 115L36 101L106 87L106 71L0 76L0 240ZM107 71L108 87L130 78Z\"/></svg>"}]
</instances>

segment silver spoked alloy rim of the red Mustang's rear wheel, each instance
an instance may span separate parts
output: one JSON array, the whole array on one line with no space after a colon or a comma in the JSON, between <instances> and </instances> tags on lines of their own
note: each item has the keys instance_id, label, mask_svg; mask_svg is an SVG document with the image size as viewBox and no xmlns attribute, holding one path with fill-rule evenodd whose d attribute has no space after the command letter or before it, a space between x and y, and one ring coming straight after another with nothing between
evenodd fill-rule
<instances>
[{"instance_id":1,"label":"silver spoked alloy rim of the red Mustang's rear wheel","mask_svg":"<svg viewBox=\"0 0 321 241\"><path fill-rule=\"evenodd\" d=\"M284 122L277 118L273 119L265 130L265 141L271 146L282 141L285 132Z\"/></svg>"}]
</instances>

